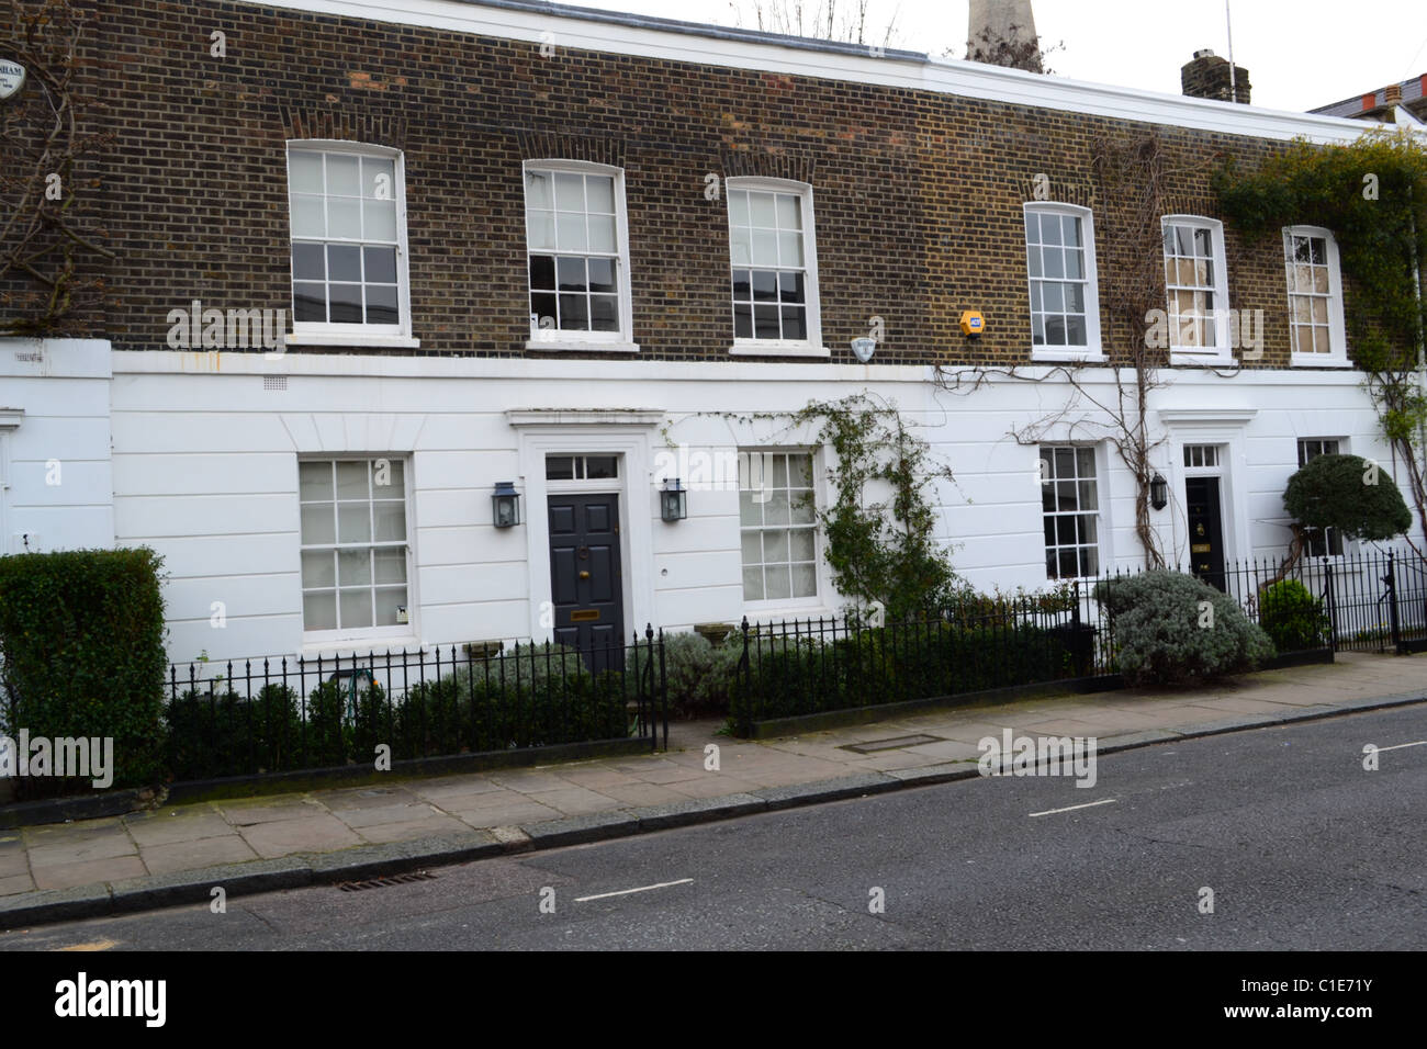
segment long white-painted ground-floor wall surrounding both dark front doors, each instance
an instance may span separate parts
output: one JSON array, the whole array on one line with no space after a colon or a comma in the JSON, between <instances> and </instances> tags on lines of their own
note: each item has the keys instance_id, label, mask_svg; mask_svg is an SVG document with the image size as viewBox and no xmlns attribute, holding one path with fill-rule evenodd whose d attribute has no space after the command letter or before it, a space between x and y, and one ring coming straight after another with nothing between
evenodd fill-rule
<instances>
[{"instance_id":1,"label":"long white-painted ground-floor wall surrounding both dark front doors","mask_svg":"<svg viewBox=\"0 0 1427 1049\"><path fill-rule=\"evenodd\" d=\"M940 535L955 547L955 567L987 589L1046 585L1037 451L1009 434L1063 407L1063 384L1002 380L960 395L936 388L926 370L913 367L301 354L265 360L117 353L114 371L114 528L118 542L148 544L167 559L176 659L200 651L223 659L303 649L297 457L323 451L410 455L415 561L410 645L537 632L548 572L544 565L531 571L537 535L531 522L545 512L544 478L535 474L551 434L567 434L575 450L604 437L632 450L628 461L638 475L619 482L625 521L631 508L639 508L625 549L626 627L736 622L745 614L833 615L841 601L826 575L821 607L745 605L738 492L696 488L688 497L688 520L665 524L658 520L655 472L669 442L726 454L739 447L809 445L808 430L735 417L791 412L809 400L862 388L895 401L955 470L956 482L940 485L938 494ZM264 387L264 375L273 374L287 378L285 390ZM1223 378L1180 370L1167 378L1170 387L1153 397L1169 421L1157 415L1152 421L1166 437L1154 464L1170 481L1173 501L1154 521L1180 555L1186 441L1224 440L1233 450L1224 487L1243 511L1237 538L1230 539L1233 557L1283 552L1280 495L1297 468L1300 437L1343 438L1349 451L1376 458L1390 472L1376 415L1353 373L1251 371ZM541 425L527 417L512 425L507 415L541 408L569 414L562 424ZM624 410L626 424L592 421L601 410ZM639 410L646 415L634 414ZM1206 410L1207 415L1196 414ZM641 418L646 421L628 422ZM1073 432L1062 425L1047 437L1087 440L1104 432L1096 431L1089 405L1070 418ZM1102 455L1102 464L1107 564L1133 567L1140 562L1133 478L1113 451ZM495 529L489 494L507 480L525 495L525 524ZM535 545L544 551L544 542ZM542 592L532 592L532 579L541 581L534 589ZM214 601L227 609L221 629L210 625Z\"/></svg>"}]
</instances>

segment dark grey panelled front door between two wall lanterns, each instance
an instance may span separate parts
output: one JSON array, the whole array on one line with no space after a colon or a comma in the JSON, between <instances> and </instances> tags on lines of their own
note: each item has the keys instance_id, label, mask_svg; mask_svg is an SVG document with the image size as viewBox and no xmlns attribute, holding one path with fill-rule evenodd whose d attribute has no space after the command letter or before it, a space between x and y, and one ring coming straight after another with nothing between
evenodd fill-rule
<instances>
[{"instance_id":1,"label":"dark grey panelled front door between two wall lanterns","mask_svg":"<svg viewBox=\"0 0 1427 1049\"><path fill-rule=\"evenodd\" d=\"M624 597L619 497L549 497L549 587L555 641L586 654L592 669L619 665Z\"/></svg>"}]
</instances>

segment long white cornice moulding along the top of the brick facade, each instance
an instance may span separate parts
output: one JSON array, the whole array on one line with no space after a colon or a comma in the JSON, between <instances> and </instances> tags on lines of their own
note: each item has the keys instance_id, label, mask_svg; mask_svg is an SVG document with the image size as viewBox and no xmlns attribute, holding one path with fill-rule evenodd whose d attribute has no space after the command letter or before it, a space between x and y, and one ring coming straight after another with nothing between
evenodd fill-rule
<instances>
[{"instance_id":1,"label":"long white cornice moulding along the top of the brick facade","mask_svg":"<svg viewBox=\"0 0 1427 1049\"><path fill-rule=\"evenodd\" d=\"M1253 138L1351 141L1376 127L1349 117L1287 113L1133 87L1092 84L908 51L888 51L885 57L873 59L870 54L809 47L798 40L751 40L746 30L642 19L616 11L564 6L538 11L455 0L264 0L254 6L554 44L555 53L549 59L532 53L532 61L559 61L559 49L568 47L935 91Z\"/></svg>"}]
</instances>

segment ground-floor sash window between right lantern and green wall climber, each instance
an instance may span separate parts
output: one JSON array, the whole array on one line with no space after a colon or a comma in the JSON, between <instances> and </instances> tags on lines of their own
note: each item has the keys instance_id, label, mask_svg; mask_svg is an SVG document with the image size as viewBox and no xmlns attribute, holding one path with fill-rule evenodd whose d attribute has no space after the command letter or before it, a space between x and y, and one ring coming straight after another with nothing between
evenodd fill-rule
<instances>
[{"instance_id":1,"label":"ground-floor sash window between right lantern and green wall climber","mask_svg":"<svg viewBox=\"0 0 1427 1049\"><path fill-rule=\"evenodd\" d=\"M818 597L818 508L812 454L742 450L738 508L743 599Z\"/></svg>"}]
</instances>

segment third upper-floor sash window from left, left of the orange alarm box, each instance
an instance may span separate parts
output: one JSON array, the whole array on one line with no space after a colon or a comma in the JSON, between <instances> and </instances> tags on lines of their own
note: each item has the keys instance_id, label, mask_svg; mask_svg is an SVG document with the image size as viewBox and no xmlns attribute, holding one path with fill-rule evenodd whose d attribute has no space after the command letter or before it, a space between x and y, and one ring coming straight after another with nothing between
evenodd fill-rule
<instances>
[{"instance_id":1,"label":"third upper-floor sash window from left, left of the orange alarm box","mask_svg":"<svg viewBox=\"0 0 1427 1049\"><path fill-rule=\"evenodd\" d=\"M818 315L812 187L728 180L733 353L826 355Z\"/></svg>"}]
</instances>

